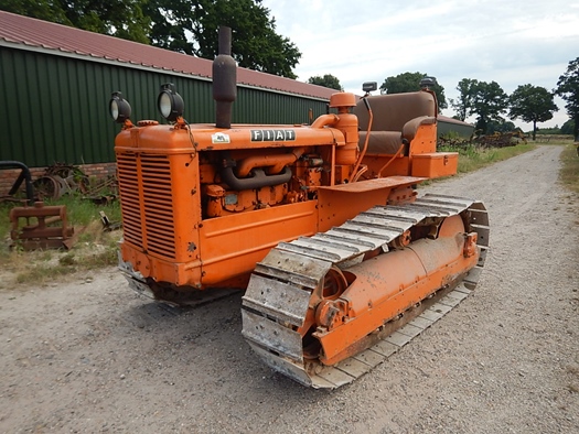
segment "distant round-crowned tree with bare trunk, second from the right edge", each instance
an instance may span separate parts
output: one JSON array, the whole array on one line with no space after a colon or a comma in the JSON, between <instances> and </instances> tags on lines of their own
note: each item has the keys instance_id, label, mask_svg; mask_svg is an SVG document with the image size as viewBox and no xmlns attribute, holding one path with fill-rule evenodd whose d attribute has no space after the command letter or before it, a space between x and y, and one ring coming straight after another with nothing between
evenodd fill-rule
<instances>
[{"instance_id":1,"label":"distant round-crowned tree with bare trunk, second from the right edge","mask_svg":"<svg viewBox=\"0 0 579 434\"><path fill-rule=\"evenodd\" d=\"M553 119L553 112L559 108L553 101L554 95L540 86L518 86L508 97L511 119L521 118L525 122L533 122L533 140L537 134L537 122Z\"/></svg>"}]
</instances>

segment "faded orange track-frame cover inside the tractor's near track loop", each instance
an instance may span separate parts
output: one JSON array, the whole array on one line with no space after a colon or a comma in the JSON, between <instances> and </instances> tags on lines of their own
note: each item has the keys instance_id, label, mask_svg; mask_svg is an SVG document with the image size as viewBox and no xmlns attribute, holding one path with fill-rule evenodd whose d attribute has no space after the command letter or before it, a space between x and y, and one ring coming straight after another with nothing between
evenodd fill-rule
<instances>
[{"instance_id":1,"label":"faded orange track-frame cover inside the tractor's near track loop","mask_svg":"<svg viewBox=\"0 0 579 434\"><path fill-rule=\"evenodd\" d=\"M355 280L333 302L345 306L340 326L313 334L322 345L323 364L349 357L344 348L443 287L449 275L458 276L476 264L478 254L464 257L461 218L451 217L442 226L447 232L437 240L419 240L349 269Z\"/></svg>"}]
</instances>

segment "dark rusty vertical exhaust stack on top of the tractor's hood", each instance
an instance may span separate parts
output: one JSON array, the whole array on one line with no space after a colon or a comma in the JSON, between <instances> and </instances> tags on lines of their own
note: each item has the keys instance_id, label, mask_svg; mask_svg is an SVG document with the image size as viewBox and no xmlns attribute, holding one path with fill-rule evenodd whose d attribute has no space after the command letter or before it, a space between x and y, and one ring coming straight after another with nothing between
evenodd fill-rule
<instances>
[{"instance_id":1,"label":"dark rusty vertical exhaust stack on top of the tractor's hood","mask_svg":"<svg viewBox=\"0 0 579 434\"><path fill-rule=\"evenodd\" d=\"M213 61L215 127L232 127L232 107L237 97L237 65L232 57L232 29L219 28L219 54Z\"/></svg>"}]
</instances>

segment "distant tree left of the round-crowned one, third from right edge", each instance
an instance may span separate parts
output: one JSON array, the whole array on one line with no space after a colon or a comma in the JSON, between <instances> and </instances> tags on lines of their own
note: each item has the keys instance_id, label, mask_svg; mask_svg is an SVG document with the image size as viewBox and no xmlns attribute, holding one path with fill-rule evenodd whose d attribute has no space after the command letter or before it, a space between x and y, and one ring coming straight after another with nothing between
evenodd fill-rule
<instances>
[{"instance_id":1,"label":"distant tree left of the round-crowned one, third from right edge","mask_svg":"<svg viewBox=\"0 0 579 434\"><path fill-rule=\"evenodd\" d=\"M476 129L483 134L489 132L491 121L503 122L501 113L506 111L508 97L496 82L476 82L473 88L472 107L469 115L476 116Z\"/></svg>"}]
</instances>

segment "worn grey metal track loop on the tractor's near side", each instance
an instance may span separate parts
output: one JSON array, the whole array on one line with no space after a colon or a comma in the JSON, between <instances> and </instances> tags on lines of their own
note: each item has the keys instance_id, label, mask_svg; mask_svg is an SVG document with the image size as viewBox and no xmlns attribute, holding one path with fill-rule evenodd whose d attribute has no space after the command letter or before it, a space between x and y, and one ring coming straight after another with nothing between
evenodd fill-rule
<instances>
[{"instance_id":1,"label":"worn grey metal track loop on the tractor's near side","mask_svg":"<svg viewBox=\"0 0 579 434\"><path fill-rule=\"evenodd\" d=\"M302 338L296 328L304 322L311 292L332 267L347 269L376 248L432 217L464 213L481 250L476 267L450 287L422 302L393 324L396 330L371 348L334 366L303 357ZM315 389L350 383L444 316L476 286L489 249L489 217L481 202L427 194L404 206L375 206L340 227L313 237L281 242L257 264L243 297L243 335L272 369ZM386 253L387 254L387 253Z\"/></svg>"}]
</instances>

